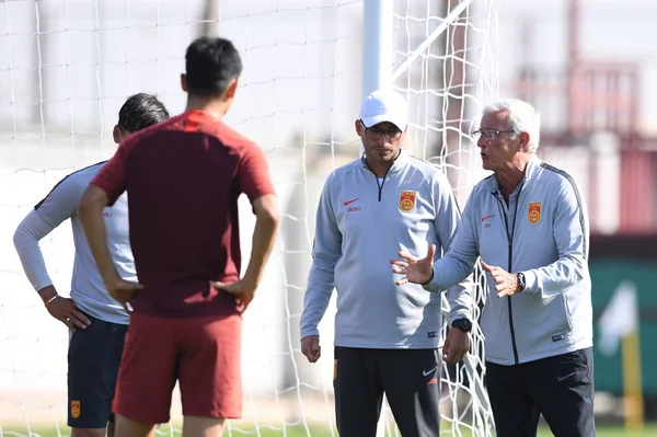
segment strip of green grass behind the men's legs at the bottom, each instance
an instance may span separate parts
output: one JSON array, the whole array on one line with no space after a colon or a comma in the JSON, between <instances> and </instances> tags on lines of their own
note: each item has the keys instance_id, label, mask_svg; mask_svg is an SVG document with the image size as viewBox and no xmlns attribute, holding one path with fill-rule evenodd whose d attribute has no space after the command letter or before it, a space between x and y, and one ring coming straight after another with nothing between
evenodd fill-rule
<instances>
[{"instance_id":1,"label":"strip of green grass behind the men's legs at the bottom","mask_svg":"<svg viewBox=\"0 0 657 437\"><path fill-rule=\"evenodd\" d=\"M246 427L240 427L240 428L243 432L239 432L235 428L233 428L229 433L227 429L224 433L224 436L232 436L232 437L247 437L247 436L308 437L306 429L303 427L299 427L299 426L288 427L288 428L286 428L285 433L281 429L270 429L267 426L262 426L260 428L260 433L253 428L251 428L251 429L249 429ZM178 427L178 429L180 429L180 427ZM8 432L9 432L9 429L0 430L0 437L3 437L3 436L27 436L26 429L11 429L11 432L12 432L11 434L9 434ZM158 435L161 435L161 436L170 435L170 433L169 433L170 429L168 427L162 428L161 432L162 433L158 434ZM69 436L69 435L70 435L69 428L61 429L61 434L58 434L56 429L39 429L39 430L33 429L32 430L32 437L37 437L37 436L64 437L64 436ZM180 436L180 433L176 433L175 435ZM443 435L449 436L449 435L451 435L451 433L443 433ZM461 435L463 437L468 436L465 430L463 430ZM657 423L646 424L645 429L642 433L627 433L622 425L600 425L596 429L596 435L597 435L597 437L624 437L624 436L655 437L655 436L657 436ZM330 437L331 432L327 429L311 429L310 436L311 437ZM337 437L337 433L334 433L334 436ZM552 436L552 433L550 432L549 428L540 428L539 437L550 437L550 436Z\"/></svg>"}]
</instances>

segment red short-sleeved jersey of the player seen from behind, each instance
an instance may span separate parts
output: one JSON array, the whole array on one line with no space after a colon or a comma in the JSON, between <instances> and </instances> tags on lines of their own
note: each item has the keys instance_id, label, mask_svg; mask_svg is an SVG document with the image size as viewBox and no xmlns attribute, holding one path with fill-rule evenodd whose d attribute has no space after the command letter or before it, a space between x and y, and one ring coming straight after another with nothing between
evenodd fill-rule
<instances>
[{"instance_id":1,"label":"red short-sleeved jersey of the player seen from behind","mask_svg":"<svg viewBox=\"0 0 657 437\"><path fill-rule=\"evenodd\" d=\"M112 205L127 189L130 245L145 289L132 307L160 317L228 314L241 268L238 197L274 194L253 141L203 111L129 136L91 182Z\"/></svg>"}]
</instances>

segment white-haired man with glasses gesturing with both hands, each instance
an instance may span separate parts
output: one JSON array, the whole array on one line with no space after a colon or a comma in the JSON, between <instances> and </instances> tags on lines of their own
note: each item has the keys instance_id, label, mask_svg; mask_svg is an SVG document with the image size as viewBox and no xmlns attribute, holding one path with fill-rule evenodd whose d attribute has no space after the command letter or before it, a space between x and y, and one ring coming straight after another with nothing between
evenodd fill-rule
<instances>
[{"instance_id":1,"label":"white-haired man with glasses gesturing with both hands","mask_svg":"<svg viewBox=\"0 0 657 437\"><path fill-rule=\"evenodd\" d=\"M560 436L595 436L589 227L573 179L542 162L540 118L519 100L484 108L477 146L494 172L468 200L449 252L404 251L397 281L439 291L479 256L489 296L482 315L486 386L497 435L535 436L540 414Z\"/></svg>"}]
</instances>

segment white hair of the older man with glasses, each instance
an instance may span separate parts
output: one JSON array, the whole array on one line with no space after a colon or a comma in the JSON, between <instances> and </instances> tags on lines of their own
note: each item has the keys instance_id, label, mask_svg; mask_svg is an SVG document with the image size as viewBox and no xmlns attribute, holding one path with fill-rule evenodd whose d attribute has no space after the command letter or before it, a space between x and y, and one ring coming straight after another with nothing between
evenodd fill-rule
<instances>
[{"instance_id":1,"label":"white hair of the older man with glasses","mask_svg":"<svg viewBox=\"0 0 657 437\"><path fill-rule=\"evenodd\" d=\"M541 140L541 116L534 107L518 99L505 99L488 103L484 107L484 115L506 112L509 129L512 129L516 135L527 133L529 135L529 143L527 151L535 153L539 149Z\"/></svg>"}]
</instances>

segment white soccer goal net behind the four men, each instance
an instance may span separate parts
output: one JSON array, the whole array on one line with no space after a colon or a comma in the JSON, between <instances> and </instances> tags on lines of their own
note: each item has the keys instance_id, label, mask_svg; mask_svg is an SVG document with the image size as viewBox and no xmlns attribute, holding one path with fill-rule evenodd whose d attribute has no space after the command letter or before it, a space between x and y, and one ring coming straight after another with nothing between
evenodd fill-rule
<instances>
[{"instance_id":1,"label":"white soccer goal net behind the four men","mask_svg":"<svg viewBox=\"0 0 657 437\"><path fill-rule=\"evenodd\" d=\"M495 0L391 0L391 84L408 100L406 148L439 165L461 204L481 177L469 131L497 92ZM110 158L125 99L157 93L184 111L184 51L203 34L233 41L244 72L227 122L266 152L284 205L281 233L257 298L244 315L244 418L227 435L334 436L334 301L320 325L323 356L300 353L299 317L314 212L327 174L359 156L362 0L11 0L0 7L0 434L70 435L69 334L25 278L12 235L67 174ZM243 253L254 225L242 199ZM55 286L68 295L68 222L41 242ZM475 281L481 308L485 294ZM479 315L479 312L475 313ZM483 336L442 369L447 435L488 435ZM158 357L153 356L153 366ZM174 395L171 424L180 434ZM84 412L84 405L81 405ZM380 435L399 435L384 409Z\"/></svg>"}]
</instances>

